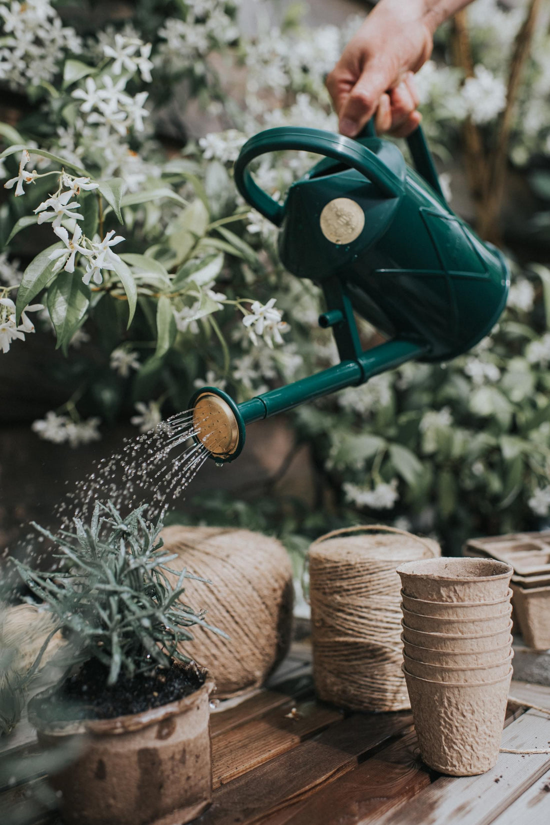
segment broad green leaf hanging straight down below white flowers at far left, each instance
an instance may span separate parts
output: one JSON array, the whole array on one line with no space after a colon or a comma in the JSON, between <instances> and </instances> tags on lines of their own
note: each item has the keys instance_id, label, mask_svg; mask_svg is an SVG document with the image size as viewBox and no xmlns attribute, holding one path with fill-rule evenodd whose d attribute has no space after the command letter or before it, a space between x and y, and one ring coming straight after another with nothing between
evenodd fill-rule
<instances>
[{"instance_id":1,"label":"broad green leaf hanging straight down below white flowers at far left","mask_svg":"<svg viewBox=\"0 0 550 825\"><path fill-rule=\"evenodd\" d=\"M60 272L48 290L48 312L57 336L56 349L67 355L68 342L87 314L90 288L82 283L82 272Z\"/></svg>"}]
</instances>

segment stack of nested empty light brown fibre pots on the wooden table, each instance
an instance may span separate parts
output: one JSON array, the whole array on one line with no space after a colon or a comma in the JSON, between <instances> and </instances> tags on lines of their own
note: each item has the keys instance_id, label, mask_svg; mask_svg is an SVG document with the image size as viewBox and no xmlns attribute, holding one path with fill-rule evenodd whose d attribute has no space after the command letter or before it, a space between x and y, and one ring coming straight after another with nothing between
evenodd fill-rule
<instances>
[{"instance_id":1,"label":"stack of nested empty light brown fibre pots on the wooden table","mask_svg":"<svg viewBox=\"0 0 550 825\"><path fill-rule=\"evenodd\" d=\"M495 766L512 677L510 564L425 559L397 568L407 689L425 763L454 776Z\"/></svg>"}]
</instances>

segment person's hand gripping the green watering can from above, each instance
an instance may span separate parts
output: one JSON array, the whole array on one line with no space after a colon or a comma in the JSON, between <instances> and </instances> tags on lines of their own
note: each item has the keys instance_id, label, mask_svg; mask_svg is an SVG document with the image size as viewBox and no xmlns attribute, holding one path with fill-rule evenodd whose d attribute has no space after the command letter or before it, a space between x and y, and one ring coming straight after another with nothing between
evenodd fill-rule
<instances>
[{"instance_id":1,"label":"person's hand gripping the green watering can from above","mask_svg":"<svg viewBox=\"0 0 550 825\"><path fill-rule=\"evenodd\" d=\"M341 134L355 137L375 115L379 134L405 137L422 115L413 76L430 57L432 18L425 0L381 0L327 78ZM458 4L457 4L458 5Z\"/></svg>"}]
</instances>

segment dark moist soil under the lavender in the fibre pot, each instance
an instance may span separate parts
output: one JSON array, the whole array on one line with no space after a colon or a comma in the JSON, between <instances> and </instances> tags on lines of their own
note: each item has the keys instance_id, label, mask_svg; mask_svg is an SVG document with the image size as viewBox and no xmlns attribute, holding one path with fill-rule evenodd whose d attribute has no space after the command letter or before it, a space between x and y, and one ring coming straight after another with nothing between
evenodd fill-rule
<instances>
[{"instance_id":1,"label":"dark moist soil under the lavender in the fibre pot","mask_svg":"<svg viewBox=\"0 0 550 825\"><path fill-rule=\"evenodd\" d=\"M84 662L78 672L40 701L40 716L47 722L78 719L115 719L169 705L204 685L206 671L194 662L156 667L147 673L120 675L107 685L108 668L97 659Z\"/></svg>"}]
</instances>

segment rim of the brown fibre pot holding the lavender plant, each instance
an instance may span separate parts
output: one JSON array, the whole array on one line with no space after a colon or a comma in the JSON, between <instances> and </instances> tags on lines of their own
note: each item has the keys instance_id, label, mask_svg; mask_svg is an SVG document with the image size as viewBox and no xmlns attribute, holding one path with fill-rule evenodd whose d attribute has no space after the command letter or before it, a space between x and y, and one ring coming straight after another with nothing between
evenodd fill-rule
<instances>
[{"instance_id":1,"label":"rim of the brown fibre pot holding the lavender plant","mask_svg":"<svg viewBox=\"0 0 550 825\"><path fill-rule=\"evenodd\" d=\"M62 682L65 681L63 676ZM209 696L214 691L214 679L206 676L204 683L192 693L182 696L167 705L159 705L157 708L140 710L136 714L125 714L124 716L114 716L112 719L68 719L59 722L46 722L40 717L35 705L39 705L40 700L49 699L59 687L59 682L54 686L40 691L29 701L28 718L31 724L48 736L74 736L78 733L94 733L98 736L113 736L121 733L133 733L137 730L148 728L149 725L162 722L171 716L181 714L184 710L194 704L198 695L206 693Z\"/></svg>"}]
</instances>

